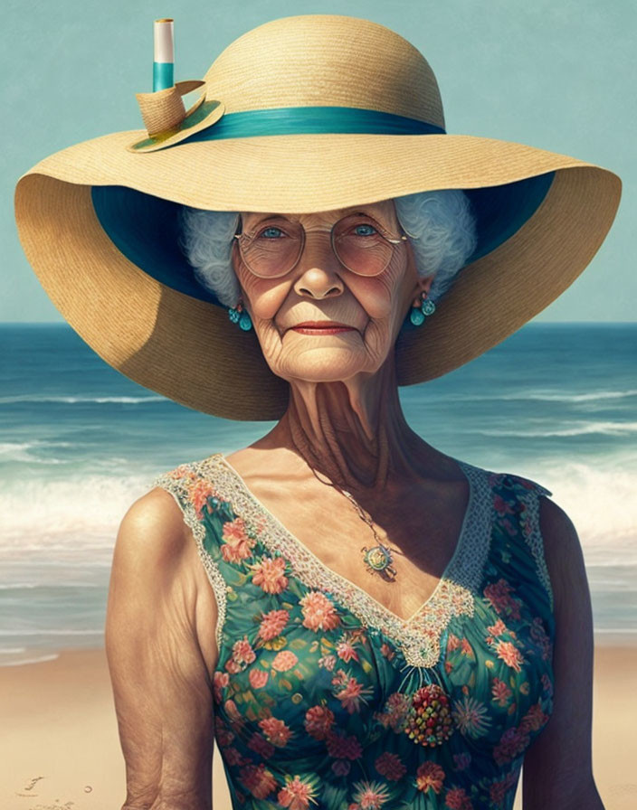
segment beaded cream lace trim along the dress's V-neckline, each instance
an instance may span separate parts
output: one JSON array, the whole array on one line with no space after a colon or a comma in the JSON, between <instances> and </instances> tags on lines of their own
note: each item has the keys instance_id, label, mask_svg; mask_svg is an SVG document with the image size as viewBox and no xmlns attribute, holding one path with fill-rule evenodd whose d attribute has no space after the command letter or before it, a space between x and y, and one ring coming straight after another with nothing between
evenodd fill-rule
<instances>
[{"instance_id":1,"label":"beaded cream lace trim along the dress's V-neckline","mask_svg":"<svg viewBox=\"0 0 637 810\"><path fill-rule=\"evenodd\" d=\"M273 553L290 560L295 576L310 588L331 594L366 626L400 646L407 664L433 666L440 658L440 639L453 616L473 616L473 591L480 586L490 548L491 499L487 473L453 459L469 483L469 502L452 559L429 598L408 619L397 616L356 583L328 568L305 543L261 504L223 454L202 462L205 477L233 504L244 520L264 524L260 540Z\"/></svg>"}]
</instances>

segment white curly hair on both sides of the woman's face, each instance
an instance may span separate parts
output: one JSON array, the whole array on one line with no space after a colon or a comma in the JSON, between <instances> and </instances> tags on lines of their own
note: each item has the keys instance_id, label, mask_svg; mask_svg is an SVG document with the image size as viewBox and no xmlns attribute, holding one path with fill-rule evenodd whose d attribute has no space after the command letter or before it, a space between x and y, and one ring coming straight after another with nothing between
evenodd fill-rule
<instances>
[{"instance_id":1,"label":"white curly hair on both sides of the woman's face","mask_svg":"<svg viewBox=\"0 0 637 810\"><path fill-rule=\"evenodd\" d=\"M436 302L476 248L471 203L458 189L396 197L396 216L408 234L421 276L433 276L428 297ZM235 306L241 290L231 253L240 214L182 206L180 245L195 278L224 306Z\"/></svg>"}]
</instances>

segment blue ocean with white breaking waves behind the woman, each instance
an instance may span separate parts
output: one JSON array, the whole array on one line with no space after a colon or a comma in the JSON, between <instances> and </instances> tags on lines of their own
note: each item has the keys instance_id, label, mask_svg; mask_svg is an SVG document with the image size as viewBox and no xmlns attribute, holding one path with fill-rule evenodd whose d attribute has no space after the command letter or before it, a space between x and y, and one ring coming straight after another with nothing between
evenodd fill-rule
<instances>
[{"instance_id":1,"label":"blue ocean with white breaking waves behind the woman","mask_svg":"<svg viewBox=\"0 0 637 810\"><path fill-rule=\"evenodd\" d=\"M401 400L434 447L551 490L582 542L595 642L637 643L637 324L528 324ZM147 391L67 325L0 325L0 665L102 646L128 506L271 424Z\"/></svg>"}]
</instances>

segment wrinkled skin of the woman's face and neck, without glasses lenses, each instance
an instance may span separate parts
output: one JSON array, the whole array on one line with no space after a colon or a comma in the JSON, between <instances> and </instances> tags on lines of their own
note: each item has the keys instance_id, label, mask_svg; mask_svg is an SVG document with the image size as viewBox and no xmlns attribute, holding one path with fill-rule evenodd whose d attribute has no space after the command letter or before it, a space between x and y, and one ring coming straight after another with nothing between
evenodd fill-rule
<instances>
[{"instance_id":1,"label":"wrinkled skin of the woman's face and neck, without glasses lenses","mask_svg":"<svg viewBox=\"0 0 637 810\"><path fill-rule=\"evenodd\" d=\"M414 449L422 455L428 447L404 421L394 345L409 307L433 280L418 275L409 242L396 246L378 276L363 277L344 268L331 249L329 231L352 212L367 212L387 231L401 232L391 200L288 214L303 225L306 243L297 266L281 278L256 277L236 243L233 249L243 303L265 360L272 372L290 382L290 407L263 447L294 448L309 466L350 492L382 489L390 474L417 475L409 456ZM242 227L253 231L267 217L242 213ZM311 335L290 329L321 320L355 329Z\"/></svg>"}]
</instances>

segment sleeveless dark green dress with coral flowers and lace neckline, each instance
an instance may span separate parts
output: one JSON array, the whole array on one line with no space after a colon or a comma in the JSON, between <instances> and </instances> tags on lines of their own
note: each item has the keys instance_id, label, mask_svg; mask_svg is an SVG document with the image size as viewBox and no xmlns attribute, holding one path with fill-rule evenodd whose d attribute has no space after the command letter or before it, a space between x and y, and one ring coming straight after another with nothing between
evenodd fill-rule
<instances>
[{"instance_id":1,"label":"sleeveless dark green dress with coral flowers and lace neckline","mask_svg":"<svg viewBox=\"0 0 637 810\"><path fill-rule=\"evenodd\" d=\"M553 706L553 594L539 496L458 461L461 534L408 620L328 569L221 454L173 494L214 589L214 736L233 810L513 805Z\"/></svg>"}]
</instances>

